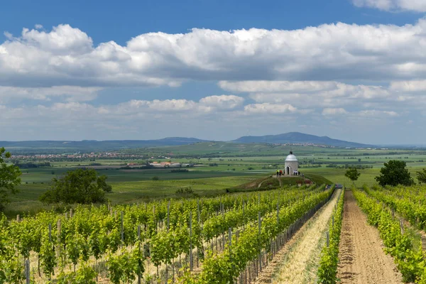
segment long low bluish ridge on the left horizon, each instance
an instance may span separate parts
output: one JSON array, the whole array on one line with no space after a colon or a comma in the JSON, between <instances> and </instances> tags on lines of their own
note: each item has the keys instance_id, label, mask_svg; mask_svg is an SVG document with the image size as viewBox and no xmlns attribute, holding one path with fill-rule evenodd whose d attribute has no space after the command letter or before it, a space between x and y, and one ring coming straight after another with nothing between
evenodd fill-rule
<instances>
[{"instance_id":1,"label":"long low bluish ridge on the left horizon","mask_svg":"<svg viewBox=\"0 0 426 284\"><path fill-rule=\"evenodd\" d=\"M63 151L115 151L126 148L145 148L156 146L180 146L204 142L197 138L168 137L158 140L83 140L83 141L0 141L0 147L6 149L49 149ZM14 150L14 153L16 151Z\"/></svg>"}]
</instances>

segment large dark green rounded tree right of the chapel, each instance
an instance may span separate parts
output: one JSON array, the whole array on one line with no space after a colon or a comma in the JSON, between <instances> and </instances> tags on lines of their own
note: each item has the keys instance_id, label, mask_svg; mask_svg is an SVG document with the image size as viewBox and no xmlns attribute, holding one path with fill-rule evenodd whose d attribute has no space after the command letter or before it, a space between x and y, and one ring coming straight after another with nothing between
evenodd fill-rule
<instances>
[{"instance_id":1,"label":"large dark green rounded tree right of the chapel","mask_svg":"<svg viewBox=\"0 0 426 284\"><path fill-rule=\"evenodd\" d=\"M406 164L403 160L390 160L381 168L380 175L376 177L379 185L413 185L414 180L411 178Z\"/></svg>"}]
</instances>

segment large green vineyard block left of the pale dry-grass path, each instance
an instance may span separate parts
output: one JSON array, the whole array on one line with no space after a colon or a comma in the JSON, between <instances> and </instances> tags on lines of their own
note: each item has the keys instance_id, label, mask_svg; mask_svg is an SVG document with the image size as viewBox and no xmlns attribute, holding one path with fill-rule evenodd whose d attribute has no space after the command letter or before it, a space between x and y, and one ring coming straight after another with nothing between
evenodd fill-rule
<instances>
[{"instance_id":1,"label":"large green vineyard block left of the pale dry-grass path","mask_svg":"<svg viewBox=\"0 0 426 284\"><path fill-rule=\"evenodd\" d=\"M251 283L332 192L290 187L3 216L0 283Z\"/></svg>"}]
</instances>

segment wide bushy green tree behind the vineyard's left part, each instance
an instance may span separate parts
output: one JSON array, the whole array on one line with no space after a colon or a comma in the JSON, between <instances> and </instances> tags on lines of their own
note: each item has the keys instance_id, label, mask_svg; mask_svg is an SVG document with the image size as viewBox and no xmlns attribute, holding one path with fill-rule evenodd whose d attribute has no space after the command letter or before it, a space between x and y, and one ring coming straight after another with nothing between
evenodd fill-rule
<instances>
[{"instance_id":1,"label":"wide bushy green tree behind the vineyard's left part","mask_svg":"<svg viewBox=\"0 0 426 284\"><path fill-rule=\"evenodd\" d=\"M52 188L40 196L40 201L48 204L105 202L105 193L111 192L107 176L98 175L94 169L68 171L62 178L53 178Z\"/></svg>"}]
</instances>

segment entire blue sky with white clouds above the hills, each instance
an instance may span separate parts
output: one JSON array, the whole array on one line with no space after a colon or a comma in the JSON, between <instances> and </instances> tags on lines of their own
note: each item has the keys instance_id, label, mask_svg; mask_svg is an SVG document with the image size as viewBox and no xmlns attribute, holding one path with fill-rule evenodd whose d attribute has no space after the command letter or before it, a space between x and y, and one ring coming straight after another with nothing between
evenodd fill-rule
<instances>
[{"instance_id":1,"label":"entire blue sky with white clouds above the hills","mask_svg":"<svg viewBox=\"0 0 426 284\"><path fill-rule=\"evenodd\" d=\"M0 141L426 139L426 0L14 0Z\"/></svg>"}]
</instances>

